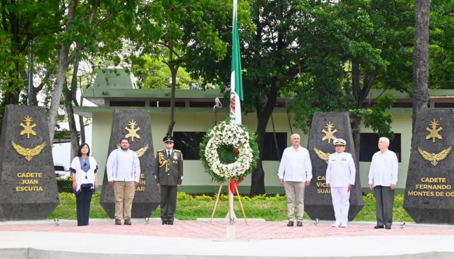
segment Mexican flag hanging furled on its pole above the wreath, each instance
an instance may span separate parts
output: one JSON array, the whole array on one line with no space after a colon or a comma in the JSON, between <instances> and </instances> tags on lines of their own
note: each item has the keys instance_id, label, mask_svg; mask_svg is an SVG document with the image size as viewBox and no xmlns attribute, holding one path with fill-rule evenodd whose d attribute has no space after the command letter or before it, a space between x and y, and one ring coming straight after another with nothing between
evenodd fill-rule
<instances>
[{"instance_id":1,"label":"Mexican flag hanging furled on its pole above the wreath","mask_svg":"<svg viewBox=\"0 0 454 259\"><path fill-rule=\"evenodd\" d=\"M243 82L241 77L240 38L237 27L237 0L233 0L232 66L230 74L230 121L241 124Z\"/></svg>"}]
</instances>

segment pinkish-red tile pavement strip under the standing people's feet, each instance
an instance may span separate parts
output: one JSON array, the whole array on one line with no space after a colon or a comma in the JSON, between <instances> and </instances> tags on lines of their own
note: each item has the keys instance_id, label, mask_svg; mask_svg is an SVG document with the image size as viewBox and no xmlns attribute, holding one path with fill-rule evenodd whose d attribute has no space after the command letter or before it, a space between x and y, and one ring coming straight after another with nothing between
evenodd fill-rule
<instances>
[{"instance_id":1,"label":"pinkish-red tile pavement strip under the standing people's feet","mask_svg":"<svg viewBox=\"0 0 454 259\"><path fill-rule=\"evenodd\" d=\"M133 219L133 225L114 225L113 220L94 220L88 226L79 227L75 221L61 221L58 226L53 221L27 221L27 223L0 223L2 231L31 232L74 232L91 234L138 235L154 237L189 237L189 238L225 238L224 221L212 224L203 221L175 221L175 225L161 225L161 221ZM395 236L395 235L454 235L454 225L407 223L404 228L399 224L391 230L374 229L373 223L349 223L348 228L332 228L332 222L321 222L318 225L307 221L301 227L287 227L286 222L235 222L237 239L297 239L309 237L362 237L362 236Z\"/></svg>"}]
</instances>

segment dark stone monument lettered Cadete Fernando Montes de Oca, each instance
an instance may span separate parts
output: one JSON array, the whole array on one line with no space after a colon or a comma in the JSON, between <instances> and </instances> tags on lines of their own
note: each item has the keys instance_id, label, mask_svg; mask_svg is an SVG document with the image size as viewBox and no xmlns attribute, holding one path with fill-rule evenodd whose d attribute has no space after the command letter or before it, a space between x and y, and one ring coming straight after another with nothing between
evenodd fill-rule
<instances>
[{"instance_id":1,"label":"dark stone monument lettered Cadete Fernando Montes de Oca","mask_svg":"<svg viewBox=\"0 0 454 259\"><path fill-rule=\"evenodd\" d=\"M404 209L416 223L454 224L454 109L416 114Z\"/></svg>"}]
</instances>

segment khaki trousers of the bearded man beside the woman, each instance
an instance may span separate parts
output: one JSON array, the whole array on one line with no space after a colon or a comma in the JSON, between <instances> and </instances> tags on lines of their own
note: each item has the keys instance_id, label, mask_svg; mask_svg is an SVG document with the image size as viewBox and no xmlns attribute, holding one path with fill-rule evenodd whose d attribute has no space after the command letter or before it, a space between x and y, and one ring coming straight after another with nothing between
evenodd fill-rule
<instances>
[{"instance_id":1,"label":"khaki trousers of the bearded man beside the woman","mask_svg":"<svg viewBox=\"0 0 454 259\"><path fill-rule=\"evenodd\" d=\"M115 219L131 218L135 192L134 182L114 182Z\"/></svg>"}]
</instances>

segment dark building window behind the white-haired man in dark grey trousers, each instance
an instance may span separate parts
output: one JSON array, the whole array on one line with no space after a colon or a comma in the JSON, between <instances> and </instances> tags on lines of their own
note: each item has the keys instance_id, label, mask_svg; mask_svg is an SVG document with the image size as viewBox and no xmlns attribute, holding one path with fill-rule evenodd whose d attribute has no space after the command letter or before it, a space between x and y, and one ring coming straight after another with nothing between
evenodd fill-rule
<instances>
[{"instance_id":1,"label":"dark building window behind the white-haired man in dark grey trousers","mask_svg":"<svg viewBox=\"0 0 454 259\"><path fill-rule=\"evenodd\" d=\"M394 133L394 140L390 140L388 149L394 151L397 160L401 162L401 134ZM360 133L360 162L372 161L372 156L379 151L379 134L377 133Z\"/></svg>"}]
</instances>

